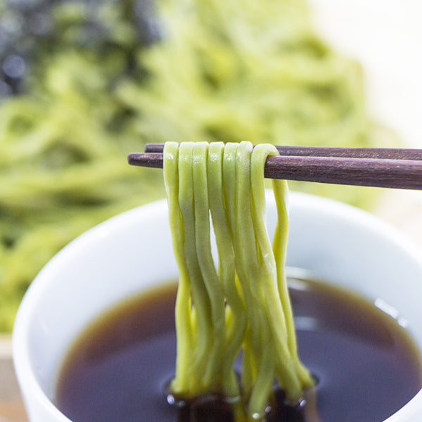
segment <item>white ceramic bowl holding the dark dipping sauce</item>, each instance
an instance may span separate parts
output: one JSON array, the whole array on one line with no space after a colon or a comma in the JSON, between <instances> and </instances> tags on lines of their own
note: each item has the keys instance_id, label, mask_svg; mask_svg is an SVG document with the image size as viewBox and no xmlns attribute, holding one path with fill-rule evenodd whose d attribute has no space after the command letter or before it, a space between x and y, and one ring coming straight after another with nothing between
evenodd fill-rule
<instances>
[{"instance_id":1,"label":"white ceramic bowl holding the dark dipping sauce","mask_svg":"<svg viewBox=\"0 0 422 422\"><path fill-rule=\"evenodd\" d=\"M269 230L275 205L267 196ZM409 321L422 350L422 264L416 247L348 205L290 194L288 265L381 298ZM13 359L30 421L69 421L53 405L56 376L72 340L103 309L175 279L164 200L100 224L61 250L33 281L13 331ZM420 422L422 392L388 422Z\"/></svg>"}]
</instances>

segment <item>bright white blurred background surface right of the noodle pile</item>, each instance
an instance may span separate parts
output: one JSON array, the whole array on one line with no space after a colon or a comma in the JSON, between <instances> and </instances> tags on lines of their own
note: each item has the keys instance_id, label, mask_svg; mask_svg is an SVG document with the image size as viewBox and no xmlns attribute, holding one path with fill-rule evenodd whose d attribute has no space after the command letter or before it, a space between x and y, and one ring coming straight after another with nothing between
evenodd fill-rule
<instances>
[{"instance_id":1,"label":"bright white blurred background surface right of the noodle pile","mask_svg":"<svg viewBox=\"0 0 422 422\"><path fill-rule=\"evenodd\" d=\"M308 0L316 30L364 70L369 112L422 148L422 0ZM385 190L376 214L422 246L422 192Z\"/></svg>"}]
</instances>

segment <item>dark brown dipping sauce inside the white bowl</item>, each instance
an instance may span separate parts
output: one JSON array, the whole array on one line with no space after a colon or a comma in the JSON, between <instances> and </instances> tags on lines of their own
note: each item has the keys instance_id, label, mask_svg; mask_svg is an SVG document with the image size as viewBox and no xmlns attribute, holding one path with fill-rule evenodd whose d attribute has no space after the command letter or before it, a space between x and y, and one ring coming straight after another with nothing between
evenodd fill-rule
<instances>
[{"instance_id":1,"label":"dark brown dipping sauce inside the white bowl","mask_svg":"<svg viewBox=\"0 0 422 422\"><path fill-rule=\"evenodd\" d=\"M174 376L176 285L131 298L76 341L58 378L56 405L73 422L229 422L229 406L167 402ZM407 331L359 295L290 279L300 357L316 380L322 422L381 422L422 387L421 355ZM276 392L271 422L316 422L309 405ZM171 400L169 400L171 402Z\"/></svg>"}]
</instances>

